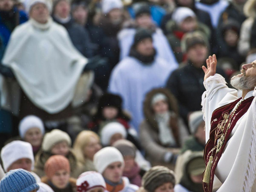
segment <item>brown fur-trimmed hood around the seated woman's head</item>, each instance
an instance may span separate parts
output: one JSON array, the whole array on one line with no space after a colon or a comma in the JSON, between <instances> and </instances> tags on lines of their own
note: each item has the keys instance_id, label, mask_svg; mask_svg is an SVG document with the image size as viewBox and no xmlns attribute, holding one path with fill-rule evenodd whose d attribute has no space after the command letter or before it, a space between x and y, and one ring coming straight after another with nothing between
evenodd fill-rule
<instances>
[{"instance_id":1,"label":"brown fur-trimmed hood around the seated woman's head","mask_svg":"<svg viewBox=\"0 0 256 192\"><path fill-rule=\"evenodd\" d=\"M155 120L155 114L151 107L151 101L152 101L152 98L155 96L155 94L158 94L158 93L162 93L167 97L169 110L175 113L175 118L177 119L179 116L178 104L177 104L176 98L174 97L173 94L170 93L168 89L156 88L148 92L143 103L144 116L145 116L145 120L149 123L149 125L151 125L153 129L156 129L157 132L158 132L158 123Z\"/></svg>"}]
</instances>

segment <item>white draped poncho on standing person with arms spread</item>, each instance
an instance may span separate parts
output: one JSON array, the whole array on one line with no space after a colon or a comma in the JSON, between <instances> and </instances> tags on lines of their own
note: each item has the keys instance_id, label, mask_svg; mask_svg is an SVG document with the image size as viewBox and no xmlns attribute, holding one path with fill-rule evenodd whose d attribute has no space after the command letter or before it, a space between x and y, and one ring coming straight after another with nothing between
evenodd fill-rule
<instances>
[{"instance_id":1,"label":"white draped poncho on standing person with arms spread","mask_svg":"<svg viewBox=\"0 0 256 192\"><path fill-rule=\"evenodd\" d=\"M37 107L58 113L74 97L87 59L73 46L66 29L49 19L45 25L30 19L11 34L3 65L11 67L17 82ZM17 114L17 86L0 77L1 106ZM13 100L13 101L10 101Z\"/></svg>"}]
</instances>

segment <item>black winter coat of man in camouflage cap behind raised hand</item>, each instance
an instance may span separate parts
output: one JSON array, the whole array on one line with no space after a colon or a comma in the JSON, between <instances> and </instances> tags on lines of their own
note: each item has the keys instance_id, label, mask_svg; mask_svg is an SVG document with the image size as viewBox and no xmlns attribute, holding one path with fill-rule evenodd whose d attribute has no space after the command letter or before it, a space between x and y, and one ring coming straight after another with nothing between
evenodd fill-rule
<instances>
[{"instance_id":1,"label":"black winter coat of man in camouflage cap behind raised hand","mask_svg":"<svg viewBox=\"0 0 256 192\"><path fill-rule=\"evenodd\" d=\"M217 67L216 73L226 77L223 70ZM188 63L176 69L170 75L166 87L176 97L179 104L180 116L187 122L189 112L201 110L201 97L205 91L204 71Z\"/></svg>"}]
</instances>

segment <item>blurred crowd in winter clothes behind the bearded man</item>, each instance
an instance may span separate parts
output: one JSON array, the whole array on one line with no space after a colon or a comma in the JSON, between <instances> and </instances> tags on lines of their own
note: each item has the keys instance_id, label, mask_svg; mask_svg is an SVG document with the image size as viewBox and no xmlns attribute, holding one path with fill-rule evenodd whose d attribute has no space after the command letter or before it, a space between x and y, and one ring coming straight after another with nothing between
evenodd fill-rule
<instances>
[{"instance_id":1,"label":"blurred crowd in winter clothes behind the bearded man","mask_svg":"<svg viewBox=\"0 0 256 192\"><path fill-rule=\"evenodd\" d=\"M0 0L0 191L203 192L202 67L217 55L232 87L256 59L255 13L256 0Z\"/></svg>"}]
</instances>

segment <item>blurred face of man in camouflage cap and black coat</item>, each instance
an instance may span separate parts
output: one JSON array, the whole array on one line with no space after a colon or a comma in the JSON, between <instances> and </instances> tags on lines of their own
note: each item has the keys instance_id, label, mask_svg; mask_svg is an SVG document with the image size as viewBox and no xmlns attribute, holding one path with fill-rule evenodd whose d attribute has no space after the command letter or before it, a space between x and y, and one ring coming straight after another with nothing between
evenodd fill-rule
<instances>
[{"instance_id":1,"label":"blurred face of man in camouflage cap and black coat","mask_svg":"<svg viewBox=\"0 0 256 192\"><path fill-rule=\"evenodd\" d=\"M188 59L195 67L202 67L208 54L208 49L205 45L196 44L187 51Z\"/></svg>"}]
</instances>

